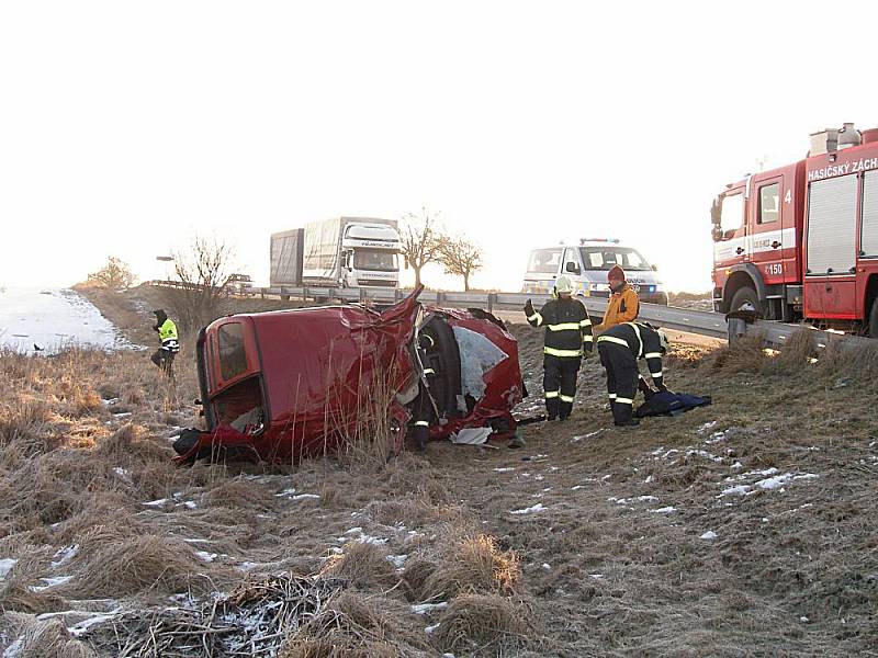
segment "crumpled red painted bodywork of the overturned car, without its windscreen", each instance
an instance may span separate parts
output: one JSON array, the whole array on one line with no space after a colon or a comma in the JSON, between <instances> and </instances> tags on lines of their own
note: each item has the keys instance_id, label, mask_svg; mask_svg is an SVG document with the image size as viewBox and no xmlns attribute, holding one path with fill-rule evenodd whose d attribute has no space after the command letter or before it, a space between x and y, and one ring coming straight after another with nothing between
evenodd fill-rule
<instances>
[{"instance_id":1,"label":"crumpled red painted bodywork of the overturned car, without its windscreen","mask_svg":"<svg viewBox=\"0 0 878 658\"><path fill-rule=\"evenodd\" d=\"M351 432L375 386L389 396L397 447L420 377L412 348L420 290L382 313L357 305L302 308L215 320L199 337L199 377L207 430L178 447L178 461L234 450L252 458L294 462L331 452ZM484 395L465 415L430 428L446 438L462 428L504 419L511 431L513 407L524 387L518 345L489 319L462 310L427 309L450 327L487 338L506 358L484 373ZM410 400L408 400L410 401ZM259 410L259 420L247 413ZM236 427L233 427L235 423Z\"/></svg>"}]
</instances>

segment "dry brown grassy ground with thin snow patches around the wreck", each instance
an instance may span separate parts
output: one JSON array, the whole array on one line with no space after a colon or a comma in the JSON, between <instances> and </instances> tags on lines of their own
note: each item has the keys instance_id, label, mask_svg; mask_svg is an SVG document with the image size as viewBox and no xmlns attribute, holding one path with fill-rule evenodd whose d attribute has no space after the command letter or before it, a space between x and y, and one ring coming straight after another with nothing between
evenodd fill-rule
<instances>
[{"instance_id":1,"label":"dry brown grassy ground with thin snow patches around the wreck","mask_svg":"<svg viewBox=\"0 0 878 658\"><path fill-rule=\"evenodd\" d=\"M149 306L98 303L123 330ZM511 331L527 417L541 334ZM524 449L192 468L169 438L198 420L193 368L175 389L147 354L0 355L4 656L250 655L199 624L179 653L132 638L291 572L331 591L288 658L878 655L874 352L680 343L668 385L712 406L633 430L593 356L573 418Z\"/></svg>"}]
</instances>

